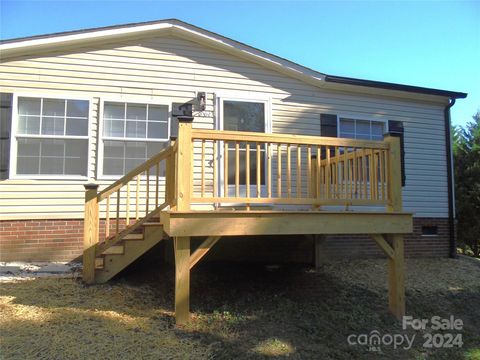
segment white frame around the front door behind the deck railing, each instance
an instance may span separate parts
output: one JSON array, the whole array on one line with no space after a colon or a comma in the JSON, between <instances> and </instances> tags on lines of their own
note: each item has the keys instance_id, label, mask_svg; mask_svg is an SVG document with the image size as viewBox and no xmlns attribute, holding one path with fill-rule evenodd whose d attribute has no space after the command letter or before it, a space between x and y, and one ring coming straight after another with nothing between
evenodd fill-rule
<instances>
[{"instance_id":1,"label":"white frame around the front door behind the deck railing","mask_svg":"<svg viewBox=\"0 0 480 360\"><path fill-rule=\"evenodd\" d=\"M244 94L244 93L237 93L237 92L225 92L225 93L220 93L216 94L216 119L215 119L215 128L217 130L223 130L223 102L224 101L238 101L238 102L252 102L252 103L263 103L265 104L265 134L271 134L272 133L272 98L268 96L262 96L263 94ZM224 161L223 161L223 142L220 142L218 144L220 146L220 149L217 151L217 154L219 156L219 174L218 174L218 181L219 181L219 186L218 188L218 194L219 196L225 196L225 186L224 184ZM265 160L267 158L267 153L265 151ZM265 161L266 163L266 161ZM265 171L265 179L267 178L266 174L266 169ZM232 184L229 184L229 186L232 186ZM245 185L242 185L245 186ZM253 188L253 185L251 185ZM266 189L265 185L261 186L261 191L264 192ZM256 190L255 190L256 191ZM228 204L227 204L228 205Z\"/></svg>"}]
</instances>

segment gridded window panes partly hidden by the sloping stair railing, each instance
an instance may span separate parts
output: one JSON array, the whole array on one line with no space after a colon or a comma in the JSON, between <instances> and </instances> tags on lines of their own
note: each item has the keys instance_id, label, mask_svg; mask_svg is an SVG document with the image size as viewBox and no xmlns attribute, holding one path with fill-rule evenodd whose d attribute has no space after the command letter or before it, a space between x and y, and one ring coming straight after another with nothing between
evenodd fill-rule
<instances>
[{"instance_id":1,"label":"gridded window panes partly hidden by the sloping stair railing","mask_svg":"<svg viewBox=\"0 0 480 360\"><path fill-rule=\"evenodd\" d=\"M168 105L103 103L103 175L124 175L166 147Z\"/></svg>"}]
</instances>

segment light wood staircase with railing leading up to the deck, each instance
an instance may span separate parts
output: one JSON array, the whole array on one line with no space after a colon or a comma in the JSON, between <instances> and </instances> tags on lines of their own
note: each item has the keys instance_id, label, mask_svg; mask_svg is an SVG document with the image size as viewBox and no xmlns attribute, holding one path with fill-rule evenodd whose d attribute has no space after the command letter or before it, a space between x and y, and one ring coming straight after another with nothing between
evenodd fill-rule
<instances>
[{"instance_id":1,"label":"light wood staircase with railing leading up to the deck","mask_svg":"<svg viewBox=\"0 0 480 360\"><path fill-rule=\"evenodd\" d=\"M87 284L107 282L168 238L159 216L175 203L175 155L172 141L101 192L96 184L85 185L83 280Z\"/></svg>"}]
</instances>

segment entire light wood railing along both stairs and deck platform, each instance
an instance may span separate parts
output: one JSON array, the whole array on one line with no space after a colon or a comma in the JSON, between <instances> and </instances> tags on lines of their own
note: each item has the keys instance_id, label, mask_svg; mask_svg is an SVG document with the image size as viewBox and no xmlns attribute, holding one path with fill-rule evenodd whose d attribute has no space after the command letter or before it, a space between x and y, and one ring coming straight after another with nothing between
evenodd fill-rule
<instances>
[{"instance_id":1,"label":"entire light wood railing along both stairs and deck platform","mask_svg":"<svg viewBox=\"0 0 480 360\"><path fill-rule=\"evenodd\" d=\"M170 207L385 206L402 210L399 138L383 141L192 129L97 193L86 185L84 280L95 258Z\"/></svg>"}]
</instances>

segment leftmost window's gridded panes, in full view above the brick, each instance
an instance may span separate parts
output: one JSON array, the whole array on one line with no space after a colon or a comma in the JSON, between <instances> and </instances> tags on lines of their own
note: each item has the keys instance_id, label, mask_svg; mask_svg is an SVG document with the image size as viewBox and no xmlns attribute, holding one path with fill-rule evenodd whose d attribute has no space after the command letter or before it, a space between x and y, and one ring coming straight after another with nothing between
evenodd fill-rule
<instances>
[{"instance_id":1,"label":"leftmost window's gridded panes, in full view above the brick","mask_svg":"<svg viewBox=\"0 0 480 360\"><path fill-rule=\"evenodd\" d=\"M87 176L88 100L17 98L13 151L19 176Z\"/></svg>"}]
</instances>

